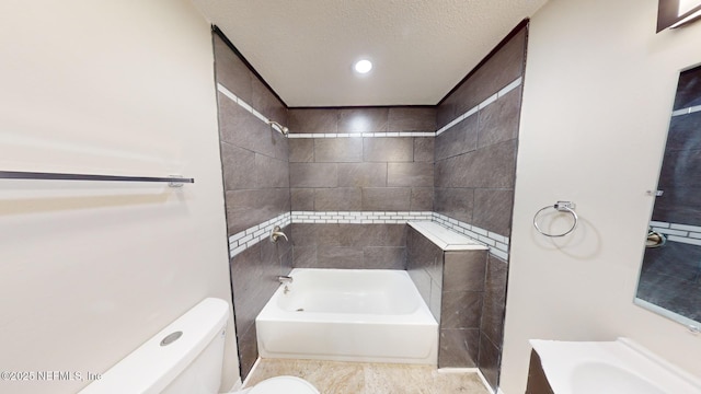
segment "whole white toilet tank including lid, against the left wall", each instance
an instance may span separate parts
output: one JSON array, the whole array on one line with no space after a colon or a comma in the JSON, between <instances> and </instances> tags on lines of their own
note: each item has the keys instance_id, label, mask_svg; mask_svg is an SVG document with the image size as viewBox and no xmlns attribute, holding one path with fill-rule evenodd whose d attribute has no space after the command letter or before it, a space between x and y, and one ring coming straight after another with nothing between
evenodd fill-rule
<instances>
[{"instance_id":1,"label":"whole white toilet tank including lid, against the left wall","mask_svg":"<svg viewBox=\"0 0 701 394\"><path fill-rule=\"evenodd\" d=\"M228 317L226 301L203 300L80 394L218 393Z\"/></svg>"}]
</instances>

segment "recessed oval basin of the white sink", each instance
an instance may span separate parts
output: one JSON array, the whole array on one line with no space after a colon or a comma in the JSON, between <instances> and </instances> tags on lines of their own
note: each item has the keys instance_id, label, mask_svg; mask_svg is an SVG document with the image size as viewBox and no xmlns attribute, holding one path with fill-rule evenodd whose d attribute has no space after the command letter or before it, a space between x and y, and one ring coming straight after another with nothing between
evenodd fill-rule
<instances>
[{"instance_id":1,"label":"recessed oval basin of the white sink","mask_svg":"<svg viewBox=\"0 0 701 394\"><path fill-rule=\"evenodd\" d=\"M643 378L606 362L584 362L572 371L574 394L665 394Z\"/></svg>"}]
</instances>

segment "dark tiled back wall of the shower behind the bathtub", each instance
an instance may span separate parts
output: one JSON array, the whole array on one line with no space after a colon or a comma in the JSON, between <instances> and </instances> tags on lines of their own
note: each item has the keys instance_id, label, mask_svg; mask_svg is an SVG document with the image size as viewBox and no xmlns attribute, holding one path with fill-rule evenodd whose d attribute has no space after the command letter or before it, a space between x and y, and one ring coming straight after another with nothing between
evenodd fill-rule
<instances>
[{"instance_id":1,"label":"dark tiled back wall of the shower behind the bathtub","mask_svg":"<svg viewBox=\"0 0 701 394\"><path fill-rule=\"evenodd\" d=\"M288 116L294 218L433 210L434 137L425 136L436 129L436 108L296 108ZM405 225L367 223L372 218L292 223L295 267L404 269Z\"/></svg>"}]
</instances>

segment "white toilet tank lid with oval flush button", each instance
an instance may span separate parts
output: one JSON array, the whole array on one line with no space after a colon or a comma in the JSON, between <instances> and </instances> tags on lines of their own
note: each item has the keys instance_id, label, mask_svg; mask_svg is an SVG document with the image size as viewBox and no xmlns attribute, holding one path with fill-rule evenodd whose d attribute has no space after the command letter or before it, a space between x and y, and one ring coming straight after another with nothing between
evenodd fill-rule
<instances>
[{"instance_id":1,"label":"white toilet tank lid with oval flush button","mask_svg":"<svg viewBox=\"0 0 701 394\"><path fill-rule=\"evenodd\" d=\"M229 304L208 298L134 350L122 361L83 389L80 394L160 393L226 327ZM166 346L170 334L183 334Z\"/></svg>"}]
</instances>

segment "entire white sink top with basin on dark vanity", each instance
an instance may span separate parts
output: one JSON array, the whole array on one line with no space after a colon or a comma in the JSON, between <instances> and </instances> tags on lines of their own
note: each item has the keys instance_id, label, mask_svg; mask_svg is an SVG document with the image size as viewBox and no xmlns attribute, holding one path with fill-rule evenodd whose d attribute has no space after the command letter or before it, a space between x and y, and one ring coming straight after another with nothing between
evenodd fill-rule
<instances>
[{"instance_id":1,"label":"entire white sink top with basin on dark vanity","mask_svg":"<svg viewBox=\"0 0 701 394\"><path fill-rule=\"evenodd\" d=\"M628 338L530 340L555 394L701 394L701 380Z\"/></svg>"}]
</instances>

